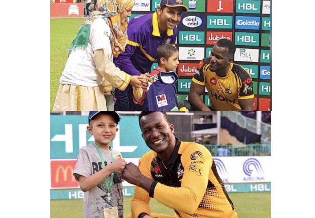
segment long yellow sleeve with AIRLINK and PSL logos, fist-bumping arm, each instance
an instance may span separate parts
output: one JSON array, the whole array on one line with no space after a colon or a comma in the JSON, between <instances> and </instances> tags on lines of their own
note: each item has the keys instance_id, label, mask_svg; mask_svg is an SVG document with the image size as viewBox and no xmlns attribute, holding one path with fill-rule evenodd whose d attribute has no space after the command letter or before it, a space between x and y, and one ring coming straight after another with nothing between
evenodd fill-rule
<instances>
[{"instance_id":1,"label":"long yellow sleeve with AIRLINK and PSL logos, fist-bumping arm","mask_svg":"<svg viewBox=\"0 0 315 218\"><path fill-rule=\"evenodd\" d=\"M186 149L181 156L184 167L181 187L157 183L154 199L172 209L194 214L208 185L212 156L202 145L191 144Z\"/></svg>"}]
</instances>

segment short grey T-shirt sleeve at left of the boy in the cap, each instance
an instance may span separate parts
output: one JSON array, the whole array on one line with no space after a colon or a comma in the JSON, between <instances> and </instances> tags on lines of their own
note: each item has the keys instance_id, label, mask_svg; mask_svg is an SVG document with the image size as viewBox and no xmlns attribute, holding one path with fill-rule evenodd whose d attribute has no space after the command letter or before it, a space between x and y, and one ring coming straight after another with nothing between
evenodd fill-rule
<instances>
[{"instance_id":1,"label":"short grey T-shirt sleeve at left of the boy in the cap","mask_svg":"<svg viewBox=\"0 0 315 218\"><path fill-rule=\"evenodd\" d=\"M89 156L86 150L80 149L76 166L73 170L74 178L79 181L80 175L88 177L91 175L91 165L89 164Z\"/></svg>"}]
</instances>

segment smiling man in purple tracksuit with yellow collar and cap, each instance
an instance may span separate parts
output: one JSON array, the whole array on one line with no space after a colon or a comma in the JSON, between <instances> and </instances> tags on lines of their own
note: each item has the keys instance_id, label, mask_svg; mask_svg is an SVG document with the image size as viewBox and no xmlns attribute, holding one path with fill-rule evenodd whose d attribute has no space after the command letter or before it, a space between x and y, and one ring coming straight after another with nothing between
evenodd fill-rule
<instances>
[{"instance_id":1,"label":"smiling man in purple tracksuit with yellow collar and cap","mask_svg":"<svg viewBox=\"0 0 315 218\"><path fill-rule=\"evenodd\" d=\"M177 37L176 25L179 24L182 12L188 9L181 0L161 0L160 6L153 14L135 17L128 24L128 42L124 53L114 59L118 68L130 75L141 75L151 72L152 63L156 60L157 47L161 44L175 46ZM132 87L124 91L116 90L115 110L145 110L132 101Z\"/></svg>"}]
</instances>

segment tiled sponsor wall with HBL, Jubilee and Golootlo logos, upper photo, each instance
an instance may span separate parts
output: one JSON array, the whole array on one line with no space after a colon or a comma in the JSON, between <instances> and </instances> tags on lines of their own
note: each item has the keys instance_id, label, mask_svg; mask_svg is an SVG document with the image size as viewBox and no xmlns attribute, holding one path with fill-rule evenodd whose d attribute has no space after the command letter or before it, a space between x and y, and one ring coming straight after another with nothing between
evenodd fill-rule
<instances>
[{"instance_id":1,"label":"tiled sponsor wall with HBL, Jubilee and Golootlo logos, upper photo","mask_svg":"<svg viewBox=\"0 0 315 218\"><path fill-rule=\"evenodd\" d=\"M156 11L160 0L136 0L131 18ZM237 49L235 63L246 68L254 81L255 110L271 109L270 1L183 0L188 8L178 25L176 47L178 100L186 100L198 62L209 57L221 38L232 40ZM152 70L157 64L152 65ZM207 90L202 99L210 105Z\"/></svg>"}]
</instances>

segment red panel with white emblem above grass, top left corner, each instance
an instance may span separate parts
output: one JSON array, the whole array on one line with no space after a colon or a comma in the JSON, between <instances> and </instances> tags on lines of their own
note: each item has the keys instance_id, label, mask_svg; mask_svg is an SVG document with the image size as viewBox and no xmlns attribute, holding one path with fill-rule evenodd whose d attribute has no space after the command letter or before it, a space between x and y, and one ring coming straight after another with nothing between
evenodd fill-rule
<instances>
[{"instance_id":1,"label":"red panel with white emblem above grass, top left corner","mask_svg":"<svg viewBox=\"0 0 315 218\"><path fill-rule=\"evenodd\" d=\"M50 17L83 17L84 3L50 4Z\"/></svg>"}]
</instances>

